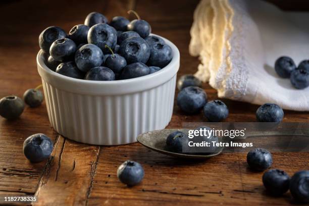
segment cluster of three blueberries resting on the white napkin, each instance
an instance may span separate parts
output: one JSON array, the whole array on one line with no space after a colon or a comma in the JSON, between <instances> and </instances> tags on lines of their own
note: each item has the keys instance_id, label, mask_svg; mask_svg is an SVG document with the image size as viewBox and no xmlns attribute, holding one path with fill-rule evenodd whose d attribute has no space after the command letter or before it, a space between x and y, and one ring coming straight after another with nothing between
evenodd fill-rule
<instances>
[{"instance_id":1,"label":"cluster of three blueberries resting on the white napkin","mask_svg":"<svg viewBox=\"0 0 309 206\"><path fill-rule=\"evenodd\" d=\"M296 89L309 86L309 60L304 60L296 67L290 57L280 57L275 63L275 70L282 78L290 78Z\"/></svg>"}]
</instances>

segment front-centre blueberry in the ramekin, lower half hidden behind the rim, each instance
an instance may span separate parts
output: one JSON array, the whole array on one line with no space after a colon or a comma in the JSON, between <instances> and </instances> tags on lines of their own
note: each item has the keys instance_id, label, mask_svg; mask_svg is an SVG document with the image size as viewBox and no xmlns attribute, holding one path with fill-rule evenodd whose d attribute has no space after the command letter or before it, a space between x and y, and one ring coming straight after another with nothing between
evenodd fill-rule
<instances>
[{"instance_id":1,"label":"front-centre blueberry in the ramekin, lower half hidden behind the rim","mask_svg":"<svg viewBox=\"0 0 309 206\"><path fill-rule=\"evenodd\" d=\"M93 81L113 81L115 80L115 73L107 67L93 67L87 72L85 79Z\"/></svg>"}]
</instances>

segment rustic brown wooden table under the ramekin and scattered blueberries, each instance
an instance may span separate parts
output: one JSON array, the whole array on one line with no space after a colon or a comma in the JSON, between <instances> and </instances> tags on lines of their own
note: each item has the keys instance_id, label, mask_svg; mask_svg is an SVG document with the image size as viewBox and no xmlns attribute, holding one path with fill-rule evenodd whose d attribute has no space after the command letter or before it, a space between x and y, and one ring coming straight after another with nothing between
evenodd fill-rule
<instances>
[{"instance_id":1,"label":"rustic brown wooden table under the ramekin and scattered blueberries","mask_svg":"<svg viewBox=\"0 0 309 206\"><path fill-rule=\"evenodd\" d=\"M199 61L188 53L189 29L198 0L190 1L5 1L0 3L0 96L22 96L40 84L36 69L37 38L47 26L69 31L85 16L99 11L109 19L126 16L135 9L154 33L173 41L181 53L178 75L193 73ZM275 1L276 2L276 1ZM278 1L277 1L278 2ZM208 84L209 99L217 94ZM254 122L258 106L224 100L229 122ZM182 122L203 122L201 114L186 116L174 108L168 128ZM308 122L309 113L285 111L285 122ZM45 133L55 142L46 162L31 164L22 152L23 141L34 133ZM265 194L263 173L248 170L246 154L220 155L207 161L185 161L150 151L139 143L93 146L58 135L48 122L46 106L25 108L20 119L0 118L0 195L38 195L38 205L284 205L290 194L272 198ZM274 153L272 168L289 175L308 169L309 153ZM116 176L126 160L141 163L145 177L128 188ZM4 203L4 202L0 202Z\"/></svg>"}]
</instances>

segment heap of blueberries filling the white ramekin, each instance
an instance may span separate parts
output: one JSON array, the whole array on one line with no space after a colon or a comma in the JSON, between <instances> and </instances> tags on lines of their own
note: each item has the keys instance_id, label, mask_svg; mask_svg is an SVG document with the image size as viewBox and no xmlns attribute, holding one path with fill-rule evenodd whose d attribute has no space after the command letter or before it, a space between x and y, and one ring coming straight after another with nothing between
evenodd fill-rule
<instances>
[{"instance_id":1,"label":"heap of blueberries filling the white ramekin","mask_svg":"<svg viewBox=\"0 0 309 206\"><path fill-rule=\"evenodd\" d=\"M47 67L59 74L86 80L113 81L145 76L167 66L172 48L158 37L149 35L148 22L114 17L110 22L97 12L88 14L84 24L69 34L50 26L39 35Z\"/></svg>"}]
</instances>

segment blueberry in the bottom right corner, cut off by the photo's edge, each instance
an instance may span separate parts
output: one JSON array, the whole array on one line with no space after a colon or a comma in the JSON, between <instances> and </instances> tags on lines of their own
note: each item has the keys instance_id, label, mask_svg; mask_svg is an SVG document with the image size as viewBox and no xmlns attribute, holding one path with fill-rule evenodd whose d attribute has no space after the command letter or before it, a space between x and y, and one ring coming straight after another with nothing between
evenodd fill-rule
<instances>
[{"instance_id":1,"label":"blueberry in the bottom right corner, cut off by the photo's edge","mask_svg":"<svg viewBox=\"0 0 309 206\"><path fill-rule=\"evenodd\" d=\"M290 192L297 202L309 203L309 170L298 171L292 176Z\"/></svg>"}]
</instances>

